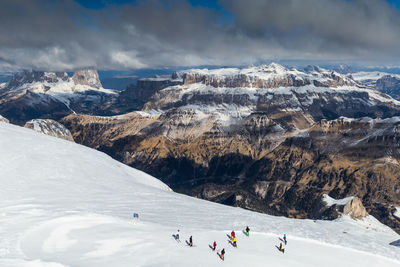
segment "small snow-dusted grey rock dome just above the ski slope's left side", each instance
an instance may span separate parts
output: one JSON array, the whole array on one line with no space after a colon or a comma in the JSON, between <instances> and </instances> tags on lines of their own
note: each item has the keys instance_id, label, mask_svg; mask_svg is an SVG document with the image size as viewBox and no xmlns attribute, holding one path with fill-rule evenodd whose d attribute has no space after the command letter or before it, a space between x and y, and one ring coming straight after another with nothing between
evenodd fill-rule
<instances>
[{"instance_id":1,"label":"small snow-dusted grey rock dome just above the ski slope's left side","mask_svg":"<svg viewBox=\"0 0 400 267\"><path fill-rule=\"evenodd\" d=\"M50 119L34 119L28 121L25 128L33 129L36 132L50 136L62 138L68 141L74 141L71 132L59 122Z\"/></svg>"}]
</instances>

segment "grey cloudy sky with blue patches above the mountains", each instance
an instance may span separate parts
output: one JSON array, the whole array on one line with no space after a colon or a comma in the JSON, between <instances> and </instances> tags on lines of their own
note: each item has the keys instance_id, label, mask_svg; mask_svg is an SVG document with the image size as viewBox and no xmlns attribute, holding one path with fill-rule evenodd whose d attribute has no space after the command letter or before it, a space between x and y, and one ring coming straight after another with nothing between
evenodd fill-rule
<instances>
[{"instance_id":1,"label":"grey cloudy sky with blue patches above the mountains","mask_svg":"<svg viewBox=\"0 0 400 267\"><path fill-rule=\"evenodd\" d=\"M399 47L400 0L0 1L0 71L396 65Z\"/></svg>"}]
</instances>

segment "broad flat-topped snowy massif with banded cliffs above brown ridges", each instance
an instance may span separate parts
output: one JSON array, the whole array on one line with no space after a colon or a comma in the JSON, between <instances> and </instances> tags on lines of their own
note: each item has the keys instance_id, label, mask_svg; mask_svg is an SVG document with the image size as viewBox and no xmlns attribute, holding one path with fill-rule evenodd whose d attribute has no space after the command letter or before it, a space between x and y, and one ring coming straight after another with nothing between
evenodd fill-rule
<instances>
[{"instance_id":1,"label":"broad flat-topped snowy massif with banded cliffs above brown ridges","mask_svg":"<svg viewBox=\"0 0 400 267\"><path fill-rule=\"evenodd\" d=\"M183 85L158 91L144 110L179 108L222 114L225 125L254 112L269 116L301 112L314 121L400 114L399 101L376 90L359 88L350 78L316 67L308 73L270 65L242 70L190 70L180 75Z\"/></svg>"}]
</instances>

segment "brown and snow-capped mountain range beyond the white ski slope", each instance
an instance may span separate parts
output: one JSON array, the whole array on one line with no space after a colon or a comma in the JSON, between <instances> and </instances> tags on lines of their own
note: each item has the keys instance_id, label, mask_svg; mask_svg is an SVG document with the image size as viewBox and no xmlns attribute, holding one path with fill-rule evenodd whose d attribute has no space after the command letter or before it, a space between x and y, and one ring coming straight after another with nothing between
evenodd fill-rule
<instances>
[{"instance_id":1,"label":"brown and snow-capped mountain range beyond the white ski slope","mask_svg":"<svg viewBox=\"0 0 400 267\"><path fill-rule=\"evenodd\" d=\"M400 232L394 215L400 207L400 102L348 74L278 64L190 69L140 79L119 94L103 92L94 72L32 75L8 82L0 114L8 107L11 121L62 117L77 143L177 192L269 214L330 219L338 215L325 210L324 194L357 195L370 214ZM50 97L67 99L69 106L62 106L69 109L34 113L18 102L33 99L23 88L36 83L54 89L32 93L40 104L29 107L42 107L42 97ZM72 87L57 94L64 83ZM13 91L25 94L13 98ZM96 101L86 105L92 94Z\"/></svg>"}]
</instances>

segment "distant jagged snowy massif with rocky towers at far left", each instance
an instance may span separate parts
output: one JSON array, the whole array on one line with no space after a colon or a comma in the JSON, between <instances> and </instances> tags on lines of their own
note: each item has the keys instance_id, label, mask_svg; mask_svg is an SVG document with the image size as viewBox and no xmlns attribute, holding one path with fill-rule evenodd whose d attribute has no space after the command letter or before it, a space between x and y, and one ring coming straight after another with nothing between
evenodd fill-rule
<instances>
[{"instance_id":1,"label":"distant jagged snowy massif with rocky towers at far left","mask_svg":"<svg viewBox=\"0 0 400 267\"><path fill-rule=\"evenodd\" d=\"M69 113L104 114L118 94L104 89L95 70L23 71L0 89L0 111L23 124L39 117L59 119Z\"/></svg>"}]
</instances>

